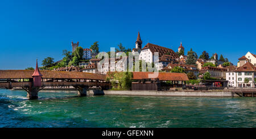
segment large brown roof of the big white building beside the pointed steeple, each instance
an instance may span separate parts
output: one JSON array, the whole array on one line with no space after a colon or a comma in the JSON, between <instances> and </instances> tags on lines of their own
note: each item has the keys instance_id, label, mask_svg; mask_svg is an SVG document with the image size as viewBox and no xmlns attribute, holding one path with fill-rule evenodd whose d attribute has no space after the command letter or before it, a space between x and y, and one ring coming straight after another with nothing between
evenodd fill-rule
<instances>
[{"instance_id":1,"label":"large brown roof of the big white building beside the pointed steeple","mask_svg":"<svg viewBox=\"0 0 256 139\"><path fill-rule=\"evenodd\" d=\"M144 49L150 49L152 54L154 55L154 52L159 53L159 58L162 57L162 55L165 55L166 53L170 53L173 58L179 58L178 55L174 52L172 49L168 49L167 47L162 47L154 44L147 43L142 50Z\"/></svg>"}]
</instances>

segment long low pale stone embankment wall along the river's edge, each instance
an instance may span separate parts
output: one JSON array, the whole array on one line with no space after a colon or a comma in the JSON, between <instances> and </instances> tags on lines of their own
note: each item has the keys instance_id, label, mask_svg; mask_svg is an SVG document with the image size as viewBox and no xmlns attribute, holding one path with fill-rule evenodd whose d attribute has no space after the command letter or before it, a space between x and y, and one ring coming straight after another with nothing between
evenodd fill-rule
<instances>
[{"instance_id":1,"label":"long low pale stone embankment wall along the river's edge","mask_svg":"<svg viewBox=\"0 0 256 139\"><path fill-rule=\"evenodd\" d=\"M131 90L89 90L88 95L141 95L167 97L232 97L232 92L225 90L198 91L198 90L170 90L170 91L131 91ZM234 94L234 97L239 95Z\"/></svg>"}]
</instances>

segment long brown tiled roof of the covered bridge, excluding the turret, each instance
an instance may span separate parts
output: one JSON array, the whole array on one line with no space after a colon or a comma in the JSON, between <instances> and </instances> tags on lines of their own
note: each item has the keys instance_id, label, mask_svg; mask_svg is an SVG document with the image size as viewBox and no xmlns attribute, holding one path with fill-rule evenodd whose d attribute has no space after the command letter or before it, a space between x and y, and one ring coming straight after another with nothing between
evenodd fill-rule
<instances>
[{"instance_id":1,"label":"long brown tiled roof of the covered bridge, excluding the turret","mask_svg":"<svg viewBox=\"0 0 256 139\"><path fill-rule=\"evenodd\" d=\"M34 70L0 70L0 79L29 79L32 78ZM66 71L43 71L42 78L47 79L89 79L105 80L106 75L86 72L66 72Z\"/></svg>"}]
</instances>

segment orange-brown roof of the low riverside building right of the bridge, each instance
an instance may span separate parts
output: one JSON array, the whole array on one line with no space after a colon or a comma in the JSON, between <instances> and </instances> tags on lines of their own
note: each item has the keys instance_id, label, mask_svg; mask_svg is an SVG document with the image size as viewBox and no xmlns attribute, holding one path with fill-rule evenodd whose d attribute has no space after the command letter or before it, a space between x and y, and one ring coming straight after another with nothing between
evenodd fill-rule
<instances>
[{"instance_id":1,"label":"orange-brown roof of the low riverside building right of the bridge","mask_svg":"<svg viewBox=\"0 0 256 139\"><path fill-rule=\"evenodd\" d=\"M133 72L134 80L149 79L148 74L154 72ZM158 72L158 78L160 81L188 81L186 73L171 73L171 72Z\"/></svg>"}]
</instances>

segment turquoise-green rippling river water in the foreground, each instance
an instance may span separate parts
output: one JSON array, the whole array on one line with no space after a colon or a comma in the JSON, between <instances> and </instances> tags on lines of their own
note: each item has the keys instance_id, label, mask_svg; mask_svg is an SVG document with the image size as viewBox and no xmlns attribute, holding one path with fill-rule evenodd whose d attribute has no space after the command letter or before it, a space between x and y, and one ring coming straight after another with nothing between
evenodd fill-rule
<instances>
[{"instance_id":1,"label":"turquoise-green rippling river water in the foreground","mask_svg":"<svg viewBox=\"0 0 256 139\"><path fill-rule=\"evenodd\" d=\"M0 127L256 127L256 98L140 97L0 89Z\"/></svg>"}]
</instances>

